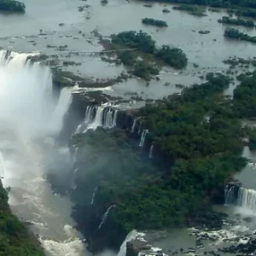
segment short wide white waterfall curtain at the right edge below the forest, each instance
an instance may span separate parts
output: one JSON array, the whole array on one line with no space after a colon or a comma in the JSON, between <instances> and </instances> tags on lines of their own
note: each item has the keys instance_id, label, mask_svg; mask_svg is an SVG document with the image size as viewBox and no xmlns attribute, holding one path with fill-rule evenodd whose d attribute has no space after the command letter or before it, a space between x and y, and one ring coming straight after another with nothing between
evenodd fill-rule
<instances>
[{"instance_id":1,"label":"short wide white waterfall curtain at the right edge below the forest","mask_svg":"<svg viewBox=\"0 0 256 256\"><path fill-rule=\"evenodd\" d=\"M256 190L240 187L238 190L237 205L245 210L256 212Z\"/></svg>"}]
</instances>

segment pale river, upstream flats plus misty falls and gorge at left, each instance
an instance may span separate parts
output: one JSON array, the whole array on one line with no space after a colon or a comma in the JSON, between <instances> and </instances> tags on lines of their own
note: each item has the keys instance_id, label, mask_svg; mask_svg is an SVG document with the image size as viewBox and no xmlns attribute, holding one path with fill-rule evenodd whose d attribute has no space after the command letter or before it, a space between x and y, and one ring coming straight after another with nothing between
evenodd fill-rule
<instances>
[{"instance_id":1,"label":"pale river, upstream flats plus misty falls and gorge at left","mask_svg":"<svg viewBox=\"0 0 256 256\"><path fill-rule=\"evenodd\" d=\"M95 0L23 2L26 3L25 15L0 15L3 24L0 27L0 46L16 52L58 55L61 61L77 61L80 66L69 68L81 75L106 79L125 70L125 67L104 62L98 56L67 57L69 51L102 50L91 33L95 29L104 37L115 32L142 29L158 45L175 45L188 55L189 65L182 73L164 67L160 81L152 80L149 86L141 79L114 84L109 90L113 96L125 97L137 93L144 99L160 98L179 92L175 84L201 82L199 74L227 71L228 67L222 61L230 56L248 58L254 52L255 45L251 43L224 38L224 26L217 22L225 15L224 12L207 11L206 17L195 17L172 10L172 5L153 3L153 8L146 8L143 2L128 3L125 0L111 0L106 6ZM84 10L79 12L79 6L84 6ZM162 13L166 7L171 11L169 14ZM163 30L143 26L141 20L145 17L166 20L169 26ZM64 23L63 26L59 25L61 23ZM198 33L200 30L209 30L210 33L201 35ZM241 31L250 35L255 33L243 28ZM67 49L58 51L51 47L60 45L67 45ZM26 55L16 55L12 65L5 63L3 55L1 61L0 160L3 184L11 187L9 204L15 214L32 223L32 230L39 235L49 255L88 255L81 235L72 228L71 202L52 194L49 183L44 180L45 173L50 169L60 169L61 172L72 165L67 148L55 142L68 108L70 92L64 92L57 102L51 100L49 69L39 65L28 67ZM193 63L199 67L194 67ZM171 85L165 86L166 82L171 82ZM54 121L49 119L52 114L57 114ZM256 189L255 182L250 178L253 169L247 167L246 171L241 180L245 186ZM175 241L179 245L189 241L187 230L185 234L183 232L175 232L178 236L172 236L172 243Z\"/></svg>"}]
</instances>

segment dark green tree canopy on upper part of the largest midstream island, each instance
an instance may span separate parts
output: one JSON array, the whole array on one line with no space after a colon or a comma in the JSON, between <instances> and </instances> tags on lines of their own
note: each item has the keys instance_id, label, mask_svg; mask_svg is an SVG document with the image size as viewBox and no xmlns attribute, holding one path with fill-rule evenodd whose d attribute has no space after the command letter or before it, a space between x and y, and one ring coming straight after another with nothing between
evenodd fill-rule
<instances>
[{"instance_id":1,"label":"dark green tree canopy on upper part of the largest midstream island","mask_svg":"<svg viewBox=\"0 0 256 256\"><path fill-rule=\"evenodd\" d=\"M169 45L163 45L160 49L155 46L154 40L145 32L119 32L111 36L111 48L137 49L133 53L122 53L119 55L124 65L135 64L138 56L147 61L163 61L174 68L183 68L187 65L188 59L182 49L171 48Z\"/></svg>"}]
</instances>

